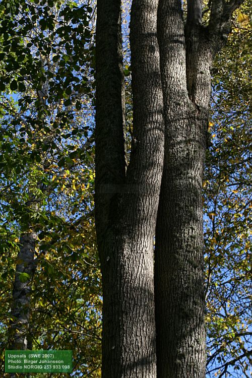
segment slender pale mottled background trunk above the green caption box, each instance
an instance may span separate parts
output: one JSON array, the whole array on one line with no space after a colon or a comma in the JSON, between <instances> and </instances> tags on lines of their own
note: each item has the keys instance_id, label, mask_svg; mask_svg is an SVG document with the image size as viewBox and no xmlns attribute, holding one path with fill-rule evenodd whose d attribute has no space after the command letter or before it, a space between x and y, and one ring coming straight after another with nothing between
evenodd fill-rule
<instances>
[{"instance_id":1,"label":"slender pale mottled background trunk above the green caption box","mask_svg":"<svg viewBox=\"0 0 252 378\"><path fill-rule=\"evenodd\" d=\"M20 237L20 251L13 287L13 303L11 318L13 318L9 333L9 348L13 350L26 350L29 346L29 320L31 285L35 271L34 252L36 234L25 233ZM20 273L29 275L27 281L20 280ZM16 376L14 374L14 376Z\"/></svg>"}]
</instances>

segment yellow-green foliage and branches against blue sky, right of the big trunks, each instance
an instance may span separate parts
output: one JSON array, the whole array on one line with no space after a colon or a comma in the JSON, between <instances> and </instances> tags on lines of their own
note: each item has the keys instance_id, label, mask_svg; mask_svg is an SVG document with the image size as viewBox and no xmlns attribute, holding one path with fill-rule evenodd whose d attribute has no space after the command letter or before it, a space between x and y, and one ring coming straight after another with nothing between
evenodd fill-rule
<instances>
[{"instance_id":1,"label":"yellow-green foliage and branches against blue sky, right of the big trunks","mask_svg":"<svg viewBox=\"0 0 252 378\"><path fill-rule=\"evenodd\" d=\"M212 69L213 147L203 184L208 376L249 376L250 370L249 12L244 3L235 14L228 43Z\"/></svg>"}]
</instances>

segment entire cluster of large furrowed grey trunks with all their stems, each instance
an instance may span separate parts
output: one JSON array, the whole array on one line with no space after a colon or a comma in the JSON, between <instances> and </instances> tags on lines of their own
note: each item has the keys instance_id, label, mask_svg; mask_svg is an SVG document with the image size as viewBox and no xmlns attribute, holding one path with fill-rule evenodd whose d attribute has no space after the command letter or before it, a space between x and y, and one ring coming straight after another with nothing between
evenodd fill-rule
<instances>
[{"instance_id":1,"label":"entire cluster of large furrowed grey trunks with all their stems","mask_svg":"<svg viewBox=\"0 0 252 378\"><path fill-rule=\"evenodd\" d=\"M213 0L203 28L201 0L188 0L184 28L180 0L133 0L134 130L126 174L120 1L97 2L104 378L205 377L202 177L210 66L241 1Z\"/></svg>"}]
</instances>

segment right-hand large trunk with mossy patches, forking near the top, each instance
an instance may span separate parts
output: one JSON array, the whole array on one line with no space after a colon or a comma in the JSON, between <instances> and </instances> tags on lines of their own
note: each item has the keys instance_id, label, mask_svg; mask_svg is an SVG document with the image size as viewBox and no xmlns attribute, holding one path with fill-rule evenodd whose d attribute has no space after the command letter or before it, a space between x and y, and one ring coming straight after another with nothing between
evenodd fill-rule
<instances>
[{"instance_id":1,"label":"right-hand large trunk with mossy patches, forking near the top","mask_svg":"<svg viewBox=\"0 0 252 378\"><path fill-rule=\"evenodd\" d=\"M158 10L165 120L155 246L158 378L205 377L202 177L211 51L199 32L199 4L190 4L187 35L179 0L160 0Z\"/></svg>"}]
</instances>

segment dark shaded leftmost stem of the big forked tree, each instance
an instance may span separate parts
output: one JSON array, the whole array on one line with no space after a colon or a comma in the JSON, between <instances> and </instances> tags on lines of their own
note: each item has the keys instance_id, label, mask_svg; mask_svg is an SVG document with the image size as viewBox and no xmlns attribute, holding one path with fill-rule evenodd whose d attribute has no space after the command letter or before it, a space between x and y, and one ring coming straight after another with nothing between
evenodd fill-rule
<instances>
[{"instance_id":1,"label":"dark shaded leftmost stem of the big forked tree","mask_svg":"<svg viewBox=\"0 0 252 378\"><path fill-rule=\"evenodd\" d=\"M123 72L120 0L97 1L96 23L96 185L102 195L96 201L96 224L106 233L110 225L110 185L125 179L123 142Z\"/></svg>"}]
</instances>

